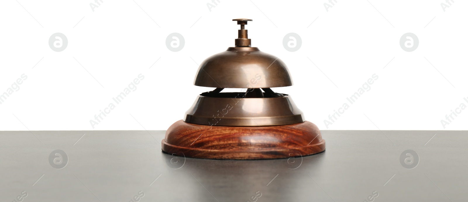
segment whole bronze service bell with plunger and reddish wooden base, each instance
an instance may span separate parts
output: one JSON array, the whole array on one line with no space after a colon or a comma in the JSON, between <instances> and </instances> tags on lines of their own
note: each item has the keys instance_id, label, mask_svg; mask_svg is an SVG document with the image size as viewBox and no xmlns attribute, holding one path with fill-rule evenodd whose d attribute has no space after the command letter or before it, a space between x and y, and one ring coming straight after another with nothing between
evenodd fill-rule
<instances>
[{"instance_id":1,"label":"whole bronze service bell with plunger and reddish wooden base","mask_svg":"<svg viewBox=\"0 0 468 202\"><path fill-rule=\"evenodd\" d=\"M305 120L288 94L273 87L292 86L289 71L278 57L251 47L245 25L235 47L200 65L194 85L214 87L197 96L183 120L172 124L161 142L163 152L202 159L280 159L325 151L325 140ZM223 93L224 88L245 92Z\"/></svg>"}]
</instances>

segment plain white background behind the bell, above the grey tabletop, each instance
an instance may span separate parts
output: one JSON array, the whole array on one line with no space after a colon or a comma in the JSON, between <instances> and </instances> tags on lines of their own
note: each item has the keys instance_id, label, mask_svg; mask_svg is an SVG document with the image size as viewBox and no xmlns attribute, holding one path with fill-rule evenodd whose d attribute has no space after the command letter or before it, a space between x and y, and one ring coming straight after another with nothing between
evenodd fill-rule
<instances>
[{"instance_id":1,"label":"plain white background behind the bell, above the grey tabletop","mask_svg":"<svg viewBox=\"0 0 468 202\"><path fill-rule=\"evenodd\" d=\"M28 79L0 104L0 130L166 130L212 89L193 86L196 63L234 46L231 20L241 17L254 20L252 46L289 67L294 86L273 90L292 95L322 130L374 73L371 90L329 130L468 130L466 109L445 129L440 122L468 105L466 1L445 12L445 0L338 0L328 12L328 0L220 0L211 11L209 0L103 0L94 12L90 3L2 1L0 94ZM68 39L64 51L48 45L56 32ZM185 39L182 51L165 45L173 32ZM283 47L291 32L299 51ZM412 52L399 44L408 32L419 39ZM140 73L137 90L93 129L89 120Z\"/></svg>"}]
</instances>

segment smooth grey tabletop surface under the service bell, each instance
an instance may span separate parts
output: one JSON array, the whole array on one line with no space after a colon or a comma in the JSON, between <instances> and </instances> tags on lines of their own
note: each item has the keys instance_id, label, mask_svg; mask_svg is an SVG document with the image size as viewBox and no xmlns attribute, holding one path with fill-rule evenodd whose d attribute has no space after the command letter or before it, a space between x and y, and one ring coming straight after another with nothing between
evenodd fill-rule
<instances>
[{"instance_id":1,"label":"smooth grey tabletop surface under the service bell","mask_svg":"<svg viewBox=\"0 0 468 202\"><path fill-rule=\"evenodd\" d=\"M325 152L275 160L176 158L164 133L1 131L0 200L468 201L467 131L323 130Z\"/></svg>"}]
</instances>

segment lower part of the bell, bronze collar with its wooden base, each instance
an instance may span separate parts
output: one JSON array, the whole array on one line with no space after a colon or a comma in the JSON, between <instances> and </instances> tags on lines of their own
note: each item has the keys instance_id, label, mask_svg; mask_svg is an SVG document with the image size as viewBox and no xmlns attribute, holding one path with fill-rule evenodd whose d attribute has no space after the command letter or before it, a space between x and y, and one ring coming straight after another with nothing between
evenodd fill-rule
<instances>
[{"instance_id":1,"label":"lower part of the bell, bronze collar with its wooden base","mask_svg":"<svg viewBox=\"0 0 468 202\"><path fill-rule=\"evenodd\" d=\"M289 95L222 96L198 96L184 120L166 131L162 151L200 159L282 159L325 151L320 130L304 120Z\"/></svg>"}]
</instances>

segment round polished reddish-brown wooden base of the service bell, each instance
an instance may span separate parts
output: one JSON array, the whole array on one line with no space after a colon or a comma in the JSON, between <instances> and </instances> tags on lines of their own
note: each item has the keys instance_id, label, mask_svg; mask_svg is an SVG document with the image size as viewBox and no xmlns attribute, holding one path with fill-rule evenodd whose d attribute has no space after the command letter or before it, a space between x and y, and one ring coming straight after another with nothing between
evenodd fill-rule
<instances>
[{"instance_id":1,"label":"round polished reddish-brown wooden base of the service bell","mask_svg":"<svg viewBox=\"0 0 468 202\"><path fill-rule=\"evenodd\" d=\"M172 124L162 151L201 159L281 159L325 151L325 140L314 123L278 126L209 126Z\"/></svg>"}]
</instances>

